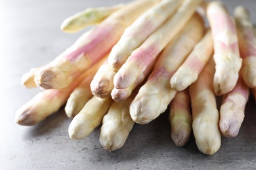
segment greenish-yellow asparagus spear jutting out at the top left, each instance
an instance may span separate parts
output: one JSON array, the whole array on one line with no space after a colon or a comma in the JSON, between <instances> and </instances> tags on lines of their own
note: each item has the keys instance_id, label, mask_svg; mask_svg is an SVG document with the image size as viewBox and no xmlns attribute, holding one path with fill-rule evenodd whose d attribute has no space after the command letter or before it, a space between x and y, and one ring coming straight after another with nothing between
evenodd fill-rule
<instances>
[{"instance_id":1,"label":"greenish-yellow asparagus spear jutting out at the top left","mask_svg":"<svg viewBox=\"0 0 256 170\"><path fill-rule=\"evenodd\" d=\"M88 8L81 12L77 12L73 16L70 16L64 20L60 29L67 33L75 33L88 27L90 25L100 24L104 19L106 19L110 14L116 10L124 7L123 4L114 5L110 7L96 7Z\"/></svg>"}]
</instances>

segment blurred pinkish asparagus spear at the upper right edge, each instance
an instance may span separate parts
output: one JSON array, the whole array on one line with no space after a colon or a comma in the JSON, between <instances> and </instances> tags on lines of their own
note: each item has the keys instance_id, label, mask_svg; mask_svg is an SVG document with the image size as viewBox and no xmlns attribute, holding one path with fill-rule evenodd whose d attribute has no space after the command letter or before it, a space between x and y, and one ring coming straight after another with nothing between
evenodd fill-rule
<instances>
[{"instance_id":1,"label":"blurred pinkish asparagus spear at the upper right edge","mask_svg":"<svg viewBox=\"0 0 256 170\"><path fill-rule=\"evenodd\" d=\"M234 10L240 54L243 59L242 76L249 88L256 88L256 37L249 11L244 7Z\"/></svg>"}]
</instances>

